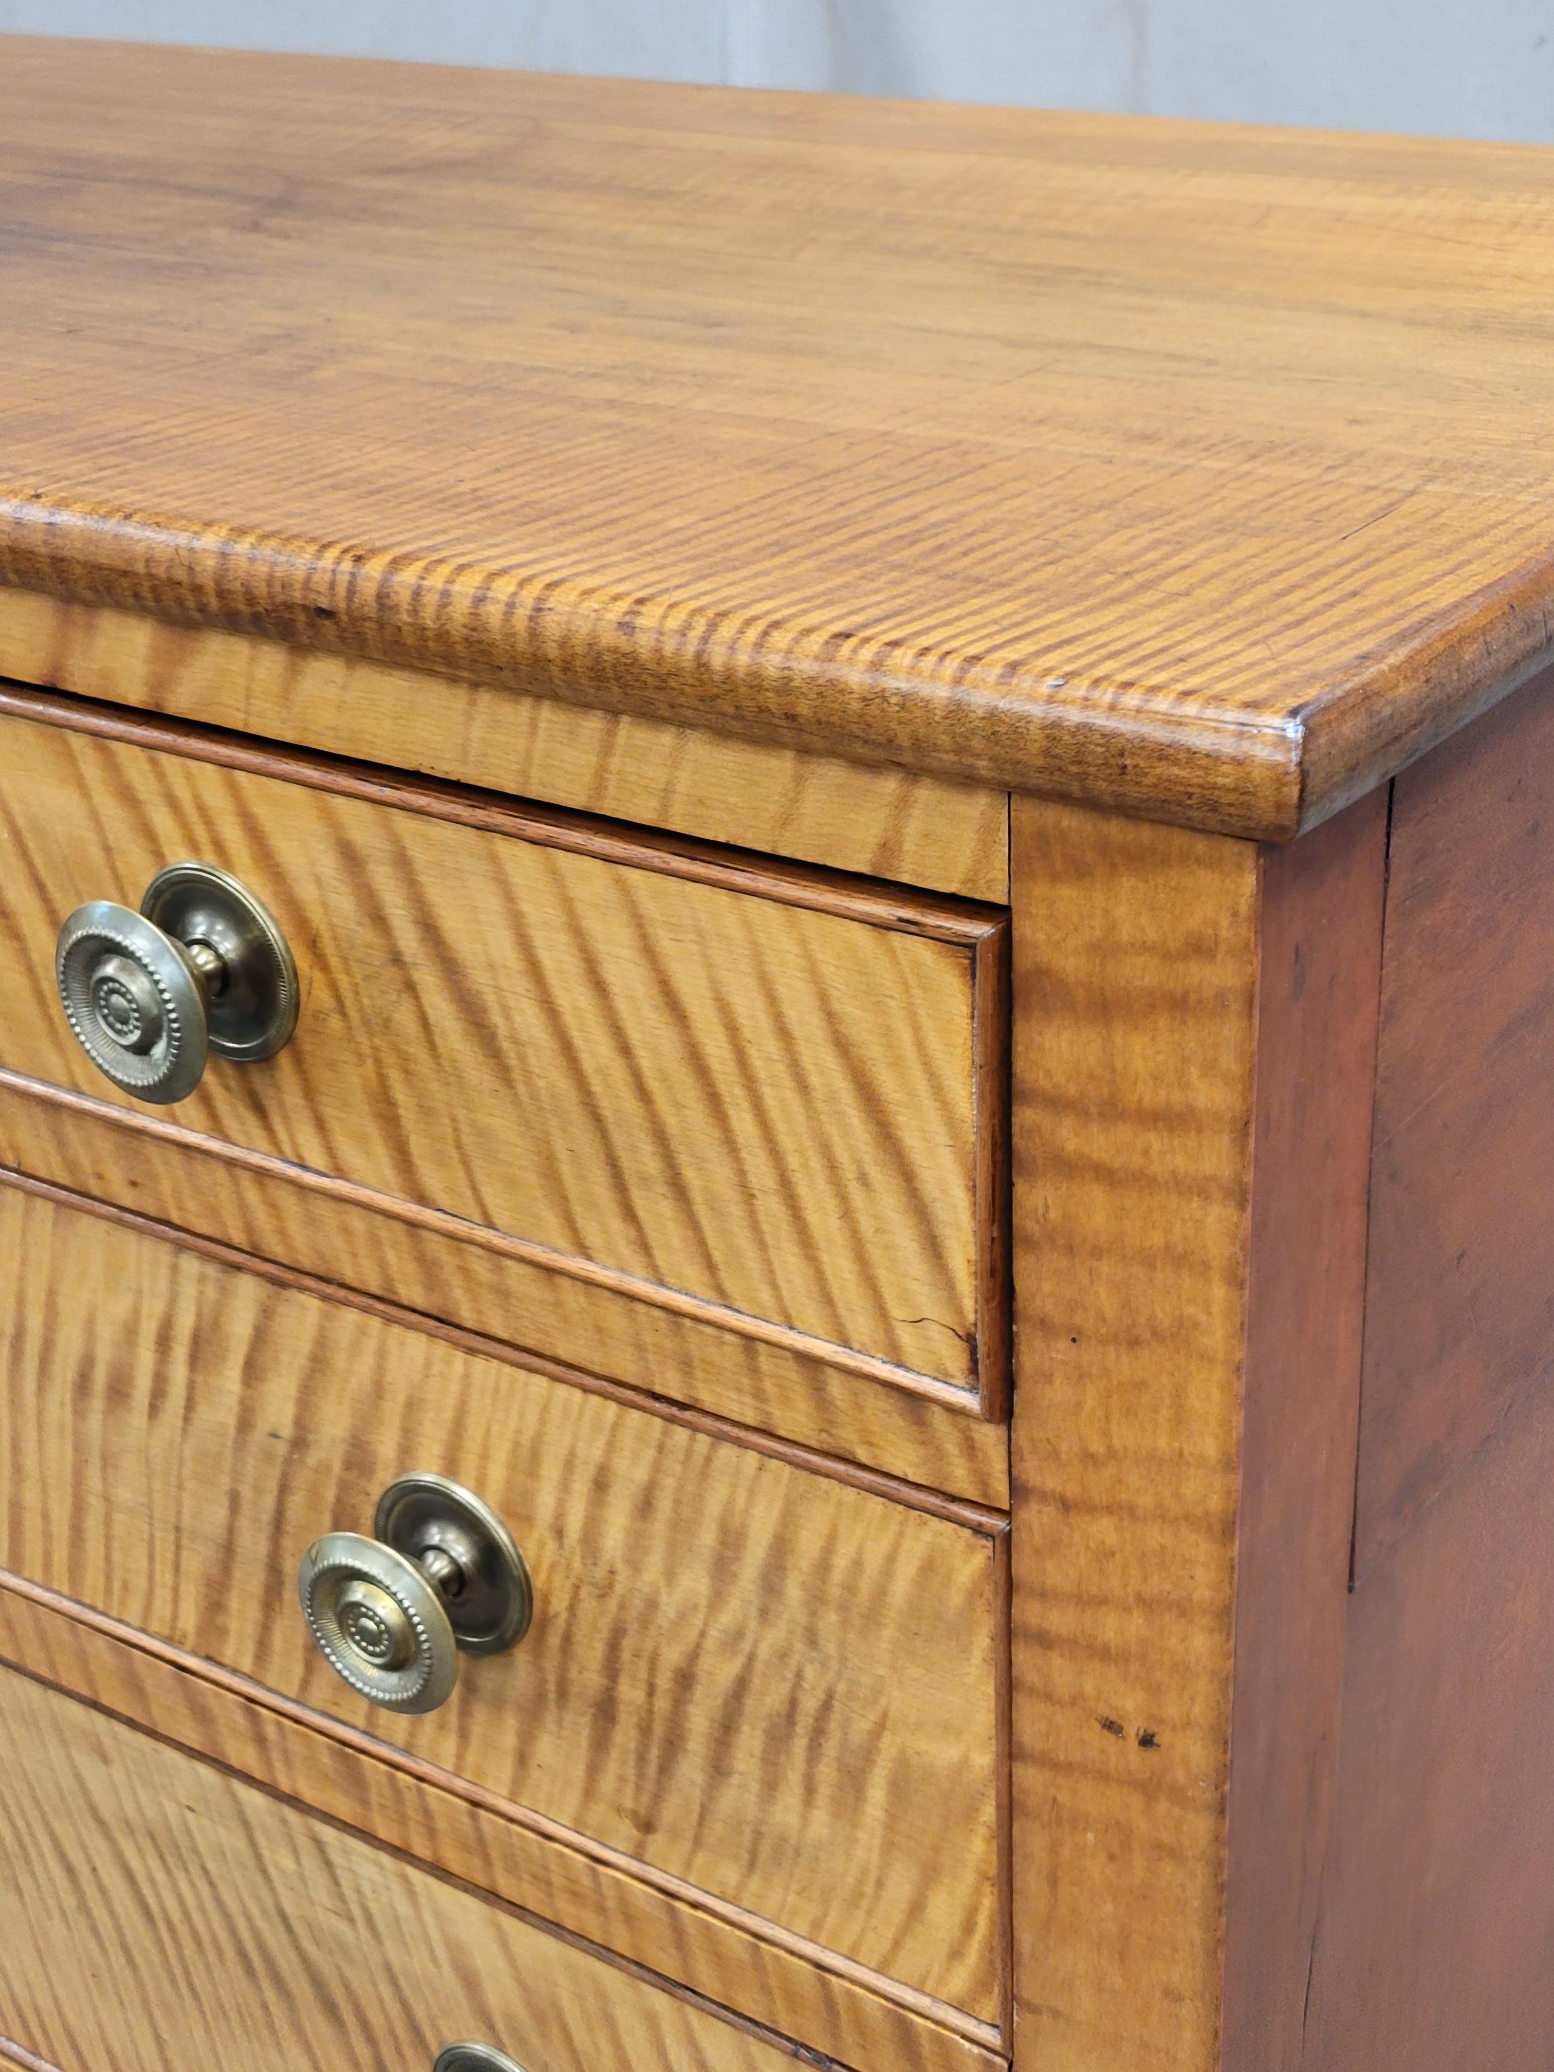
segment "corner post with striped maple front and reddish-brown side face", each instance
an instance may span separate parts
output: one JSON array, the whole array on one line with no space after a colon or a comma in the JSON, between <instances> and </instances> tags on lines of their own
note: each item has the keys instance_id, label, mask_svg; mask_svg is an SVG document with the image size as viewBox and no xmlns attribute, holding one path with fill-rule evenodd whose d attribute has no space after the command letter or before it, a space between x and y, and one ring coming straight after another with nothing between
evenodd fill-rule
<instances>
[{"instance_id":1,"label":"corner post with striped maple front and reddish-brown side face","mask_svg":"<svg viewBox=\"0 0 1554 2072\"><path fill-rule=\"evenodd\" d=\"M1299 2064L1384 837L1015 806L1019 2072Z\"/></svg>"}]
</instances>

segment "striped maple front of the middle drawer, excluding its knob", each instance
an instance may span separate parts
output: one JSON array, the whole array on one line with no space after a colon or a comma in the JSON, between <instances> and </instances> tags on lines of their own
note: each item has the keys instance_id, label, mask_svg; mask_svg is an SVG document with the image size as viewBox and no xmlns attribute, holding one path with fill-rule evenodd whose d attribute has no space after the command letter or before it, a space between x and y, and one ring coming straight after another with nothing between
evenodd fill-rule
<instances>
[{"instance_id":1,"label":"striped maple front of the middle drawer, excluding its knob","mask_svg":"<svg viewBox=\"0 0 1554 2072\"><path fill-rule=\"evenodd\" d=\"M997 1535L15 1185L0 1316L0 1564L999 2022ZM537 1598L425 1720L294 1585L408 1469Z\"/></svg>"}]
</instances>

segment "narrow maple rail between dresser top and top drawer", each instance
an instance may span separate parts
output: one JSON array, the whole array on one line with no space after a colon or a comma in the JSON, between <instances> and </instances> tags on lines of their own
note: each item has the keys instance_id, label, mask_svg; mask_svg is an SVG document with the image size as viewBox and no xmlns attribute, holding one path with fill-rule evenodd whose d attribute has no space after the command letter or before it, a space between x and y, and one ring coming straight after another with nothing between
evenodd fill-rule
<instances>
[{"instance_id":1,"label":"narrow maple rail between dresser top and top drawer","mask_svg":"<svg viewBox=\"0 0 1554 2072\"><path fill-rule=\"evenodd\" d=\"M0 588L0 678L640 821L901 885L1009 897L1009 800L218 628Z\"/></svg>"}]
</instances>

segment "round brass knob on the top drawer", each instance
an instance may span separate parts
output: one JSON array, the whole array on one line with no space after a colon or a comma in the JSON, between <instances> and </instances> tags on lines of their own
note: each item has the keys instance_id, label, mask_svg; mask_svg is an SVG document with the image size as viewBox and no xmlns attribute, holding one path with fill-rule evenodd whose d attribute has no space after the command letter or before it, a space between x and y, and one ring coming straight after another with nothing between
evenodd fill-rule
<instances>
[{"instance_id":1,"label":"round brass knob on the top drawer","mask_svg":"<svg viewBox=\"0 0 1554 2072\"><path fill-rule=\"evenodd\" d=\"M141 1100L193 1094L211 1051L274 1057L296 1028L296 966L271 916L226 870L170 864L141 912L77 908L54 978L81 1048Z\"/></svg>"}]
</instances>

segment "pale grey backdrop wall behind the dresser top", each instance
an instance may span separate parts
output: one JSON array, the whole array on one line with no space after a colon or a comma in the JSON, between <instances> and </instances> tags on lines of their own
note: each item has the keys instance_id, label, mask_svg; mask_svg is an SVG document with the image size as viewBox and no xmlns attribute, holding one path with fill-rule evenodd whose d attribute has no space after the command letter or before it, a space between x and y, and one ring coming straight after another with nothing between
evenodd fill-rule
<instances>
[{"instance_id":1,"label":"pale grey backdrop wall behind the dresser top","mask_svg":"<svg viewBox=\"0 0 1554 2072\"><path fill-rule=\"evenodd\" d=\"M0 29L1554 143L1554 0L0 0Z\"/></svg>"}]
</instances>

